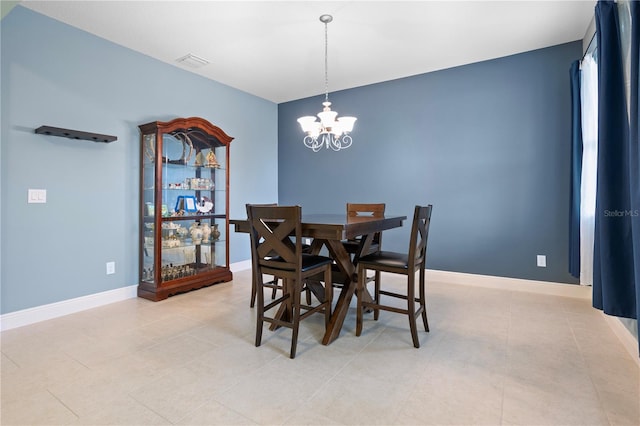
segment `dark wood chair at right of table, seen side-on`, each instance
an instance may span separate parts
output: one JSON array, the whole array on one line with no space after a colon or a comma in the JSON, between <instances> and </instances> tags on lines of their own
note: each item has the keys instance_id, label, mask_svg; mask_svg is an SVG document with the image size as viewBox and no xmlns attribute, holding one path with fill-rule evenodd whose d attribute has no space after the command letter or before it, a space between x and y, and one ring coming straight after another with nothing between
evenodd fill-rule
<instances>
[{"instance_id":1,"label":"dark wood chair at right of table, seen side-on","mask_svg":"<svg viewBox=\"0 0 640 426\"><path fill-rule=\"evenodd\" d=\"M425 266L427 258L427 237L429 236L429 224L431 223L431 211L433 206L416 206L413 214L411 233L409 237L408 253L398 253L391 251L379 251L368 254L360 258L358 262L358 285L356 295L358 298L356 306L356 336L362 333L362 314L365 308L373 309L374 320L378 319L380 310L390 311L407 315L413 346L420 347L417 331L417 318L422 316L425 331L429 331L427 321L426 289L425 289ZM365 271L375 271L374 295L371 302L363 301L363 293L367 285ZM416 271L419 271L418 295L415 293ZM406 294L399 293L399 290L383 290L381 286L381 272L406 275ZM385 305L381 302L381 296L388 296L396 299L403 299L407 302L406 308L399 308L393 305ZM418 308L416 309L416 304Z\"/></svg>"}]
</instances>

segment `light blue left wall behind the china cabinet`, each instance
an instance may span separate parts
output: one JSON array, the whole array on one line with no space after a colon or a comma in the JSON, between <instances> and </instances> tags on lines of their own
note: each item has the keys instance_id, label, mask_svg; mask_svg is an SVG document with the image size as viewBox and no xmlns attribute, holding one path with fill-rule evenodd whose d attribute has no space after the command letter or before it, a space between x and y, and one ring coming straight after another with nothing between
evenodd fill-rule
<instances>
[{"instance_id":1,"label":"light blue left wall behind the china cabinet","mask_svg":"<svg viewBox=\"0 0 640 426\"><path fill-rule=\"evenodd\" d=\"M231 216L277 200L276 104L20 6L1 31L1 313L137 284L138 124L208 119L235 137ZM118 140L35 134L41 125ZM27 204L29 188L47 203ZM247 259L234 248L248 242L230 238L231 262Z\"/></svg>"}]
</instances>

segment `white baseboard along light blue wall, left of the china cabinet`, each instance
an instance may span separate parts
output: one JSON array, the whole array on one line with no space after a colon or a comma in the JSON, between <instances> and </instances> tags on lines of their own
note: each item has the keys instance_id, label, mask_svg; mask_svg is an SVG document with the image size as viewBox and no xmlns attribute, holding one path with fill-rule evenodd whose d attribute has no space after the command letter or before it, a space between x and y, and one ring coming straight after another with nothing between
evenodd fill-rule
<instances>
[{"instance_id":1,"label":"white baseboard along light blue wall, left of the china cabinet","mask_svg":"<svg viewBox=\"0 0 640 426\"><path fill-rule=\"evenodd\" d=\"M109 303L120 302L137 296L137 285L116 288L101 293L89 294L48 305L36 306L21 311L0 315L0 331L11 330L40 321L58 318Z\"/></svg>"}]
</instances>

